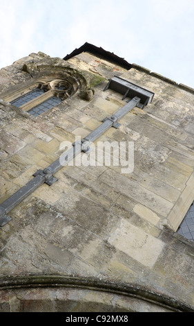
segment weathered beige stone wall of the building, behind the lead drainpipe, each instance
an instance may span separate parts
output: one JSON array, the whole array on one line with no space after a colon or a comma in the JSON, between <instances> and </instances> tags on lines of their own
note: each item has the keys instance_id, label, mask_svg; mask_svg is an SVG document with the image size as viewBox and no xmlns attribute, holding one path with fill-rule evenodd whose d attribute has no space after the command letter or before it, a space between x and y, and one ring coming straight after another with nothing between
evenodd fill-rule
<instances>
[{"instance_id":1,"label":"weathered beige stone wall of the building, behind the lead drainpipe","mask_svg":"<svg viewBox=\"0 0 194 326\"><path fill-rule=\"evenodd\" d=\"M21 84L61 71L79 89L41 116L6 101ZM194 311L194 243L176 233L194 199L189 87L91 53L68 61L32 53L1 69L0 203L57 160L62 141L85 137L126 104L104 92L115 75L155 93L98 139L134 141L134 171L64 166L55 184L12 209L0 230L0 311Z\"/></svg>"}]
</instances>

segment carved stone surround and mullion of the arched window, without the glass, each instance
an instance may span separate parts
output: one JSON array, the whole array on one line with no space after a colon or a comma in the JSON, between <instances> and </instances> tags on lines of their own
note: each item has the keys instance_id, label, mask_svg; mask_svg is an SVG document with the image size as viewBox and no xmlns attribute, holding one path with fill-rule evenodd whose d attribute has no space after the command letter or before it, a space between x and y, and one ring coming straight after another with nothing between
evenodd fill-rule
<instances>
[{"instance_id":1,"label":"carved stone surround and mullion of the arched window, without the glass","mask_svg":"<svg viewBox=\"0 0 194 326\"><path fill-rule=\"evenodd\" d=\"M22 71L26 75L23 76L25 80L17 85L10 85L6 92L0 94L0 98L3 101L10 103L17 98L28 94L28 92L32 92L32 90L39 87L40 84L47 84L45 86L48 87L47 92L34 98L32 101L25 103L25 105L21 105L19 108L23 111L28 111L31 108L34 108L36 105L39 105L52 96L60 96L63 101L64 99L75 95L77 91L85 92L86 89L88 89L88 80L83 76L82 71L77 71L70 67L55 65L37 66L33 63L32 67L30 64L24 65ZM57 87L55 87L57 83L61 85L68 84L69 87L66 87L66 89L61 91L59 88L57 89ZM61 94L59 94L60 92ZM64 94L62 94L62 92Z\"/></svg>"}]
</instances>

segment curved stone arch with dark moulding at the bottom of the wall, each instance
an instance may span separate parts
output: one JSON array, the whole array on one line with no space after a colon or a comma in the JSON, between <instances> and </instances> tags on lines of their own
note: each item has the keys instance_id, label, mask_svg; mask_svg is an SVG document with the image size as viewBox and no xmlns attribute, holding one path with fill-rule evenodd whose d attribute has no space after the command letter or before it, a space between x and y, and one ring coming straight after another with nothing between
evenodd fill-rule
<instances>
[{"instance_id":1,"label":"curved stone arch with dark moulding at the bottom of the wall","mask_svg":"<svg viewBox=\"0 0 194 326\"><path fill-rule=\"evenodd\" d=\"M0 278L1 312L193 312L137 284L60 275Z\"/></svg>"}]
</instances>

